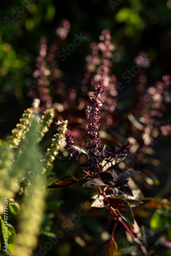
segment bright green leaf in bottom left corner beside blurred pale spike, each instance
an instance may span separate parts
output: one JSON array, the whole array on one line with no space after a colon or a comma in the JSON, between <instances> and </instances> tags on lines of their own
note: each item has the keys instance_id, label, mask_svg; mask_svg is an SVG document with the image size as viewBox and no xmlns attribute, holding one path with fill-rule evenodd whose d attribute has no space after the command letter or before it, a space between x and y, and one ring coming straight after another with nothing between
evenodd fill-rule
<instances>
[{"instance_id":1,"label":"bright green leaf in bottom left corner beside blurred pale spike","mask_svg":"<svg viewBox=\"0 0 171 256\"><path fill-rule=\"evenodd\" d=\"M1 230L3 234L4 242L6 242L8 239L8 250L12 253L13 248L15 246L15 229L11 224L5 224L3 219L0 216L0 222L1 222Z\"/></svg>"}]
</instances>

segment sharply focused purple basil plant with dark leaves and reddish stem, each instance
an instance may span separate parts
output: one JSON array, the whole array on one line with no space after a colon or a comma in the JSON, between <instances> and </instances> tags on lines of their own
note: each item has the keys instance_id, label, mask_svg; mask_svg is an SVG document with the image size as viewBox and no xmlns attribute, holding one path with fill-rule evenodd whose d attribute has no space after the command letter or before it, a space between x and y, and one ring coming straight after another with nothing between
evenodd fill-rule
<instances>
[{"instance_id":1,"label":"sharply focused purple basil plant with dark leaves and reddish stem","mask_svg":"<svg viewBox=\"0 0 171 256\"><path fill-rule=\"evenodd\" d=\"M88 124L88 137L90 141L87 143L87 150L79 146L74 145L73 136L71 134L66 135L66 146L69 159L66 157L58 157L63 161L74 161L78 168L86 174L83 180L75 178L73 175L68 175L54 181L48 188L58 188L74 183L83 182L82 187L97 188L97 195L94 195L90 202L92 207L106 208L109 210L112 219L115 221L111 239L109 245L105 248L106 253L108 250L113 249L113 252L117 252L117 244L114 240L115 229L120 222L124 228L130 233L131 237L136 243L135 245L139 249L142 255L146 254L146 249L142 244L141 233L138 236L133 233L133 224L136 224L136 220L133 216L132 206L143 204L143 200L134 198L132 190L127 185L128 179L139 173L137 170L124 170L118 173L115 166L122 162L126 153L129 151L130 142L126 141L124 144L120 144L116 147L114 152L107 145L100 148L100 133L99 129L99 108L102 106L102 102L99 100L101 94L104 92L104 88L101 85L95 87L94 97L90 97L91 105L88 105L88 117L90 121ZM82 155L87 156L87 161L83 164L79 163L79 159ZM106 254L107 255L107 254ZM111 254L110 254L111 255Z\"/></svg>"}]
</instances>

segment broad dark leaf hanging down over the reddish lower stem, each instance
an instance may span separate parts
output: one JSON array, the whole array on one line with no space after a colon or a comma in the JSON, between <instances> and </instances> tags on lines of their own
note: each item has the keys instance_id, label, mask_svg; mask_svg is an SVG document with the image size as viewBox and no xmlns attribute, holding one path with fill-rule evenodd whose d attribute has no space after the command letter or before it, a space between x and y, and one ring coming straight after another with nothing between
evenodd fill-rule
<instances>
[{"instance_id":1,"label":"broad dark leaf hanging down over the reddish lower stem","mask_svg":"<svg viewBox=\"0 0 171 256\"><path fill-rule=\"evenodd\" d=\"M134 224L134 216L130 204L123 198L110 199L111 206L128 223Z\"/></svg>"}]
</instances>

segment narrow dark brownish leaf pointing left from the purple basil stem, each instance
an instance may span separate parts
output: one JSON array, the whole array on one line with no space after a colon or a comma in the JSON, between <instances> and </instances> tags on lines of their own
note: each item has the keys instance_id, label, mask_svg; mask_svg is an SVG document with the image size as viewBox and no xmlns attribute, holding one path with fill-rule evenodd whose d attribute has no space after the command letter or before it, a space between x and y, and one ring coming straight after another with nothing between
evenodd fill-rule
<instances>
[{"instance_id":1,"label":"narrow dark brownish leaf pointing left from the purple basil stem","mask_svg":"<svg viewBox=\"0 0 171 256\"><path fill-rule=\"evenodd\" d=\"M62 177L60 179L55 180L47 188L59 188L59 187L70 186L70 185L72 185L74 183L77 183L79 181L80 180L76 179L74 176L68 175L68 176L65 176L65 177Z\"/></svg>"}]
</instances>

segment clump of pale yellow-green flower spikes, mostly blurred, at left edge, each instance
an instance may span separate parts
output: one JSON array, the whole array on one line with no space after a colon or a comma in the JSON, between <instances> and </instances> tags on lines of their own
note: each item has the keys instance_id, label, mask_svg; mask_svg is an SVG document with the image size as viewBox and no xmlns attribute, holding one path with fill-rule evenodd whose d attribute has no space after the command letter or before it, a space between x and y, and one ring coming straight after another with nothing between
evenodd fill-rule
<instances>
[{"instance_id":1,"label":"clump of pale yellow-green flower spikes, mostly blurred, at left edge","mask_svg":"<svg viewBox=\"0 0 171 256\"><path fill-rule=\"evenodd\" d=\"M52 170L53 161L67 130L67 121L58 122L58 133L52 139L51 148L43 156L38 142L48 132L54 110L46 110L40 118L38 104L33 105L33 108L24 112L20 123L12 131L10 143L3 142L1 146L1 202L8 198L9 212L15 216L18 223L16 235L14 227L8 224L8 250L14 256L32 255L37 246L37 237L46 209L45 172L48 169L50 173L49 167ZM15 202L17 194L22 196ZM3 215L2 212L1 214ZM10 217L10 214L7 216L9 220L14 218ZM1 218L2 238L5 238L4 227L5 223Z\"/></svg>"}]
</instances>

